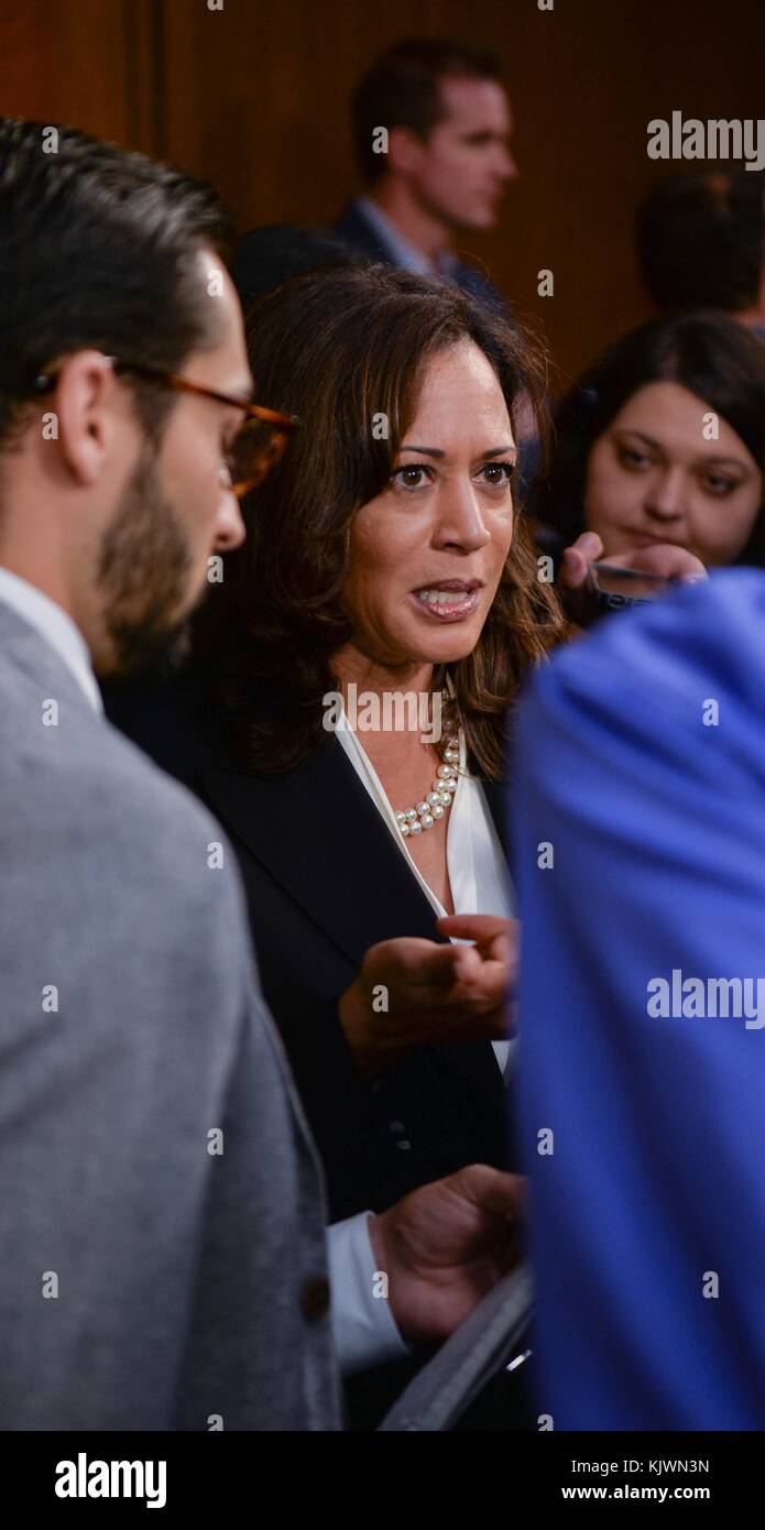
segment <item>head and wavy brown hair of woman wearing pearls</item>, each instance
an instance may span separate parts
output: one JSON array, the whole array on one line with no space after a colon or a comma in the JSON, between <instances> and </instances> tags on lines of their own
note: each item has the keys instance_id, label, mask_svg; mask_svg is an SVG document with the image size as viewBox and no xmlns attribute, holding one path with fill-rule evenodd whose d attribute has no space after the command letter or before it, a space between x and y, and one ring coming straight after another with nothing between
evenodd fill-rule
<instances>
[{"instance_id":1,"label":"head and wavy brown hair of woman wearing pearls","mask_svg":"<svg viewBox=\"0 0 765 1530\"><path fill-rule=\"evenodd\" d=\"M259 395L289 399L300 428L257 490L246 542L213 592L225 612L217 623L216 688L237 753L259 770L282 771L324 741L321 698L353 646L353 606L372 574L378 604L386 606L386 633L390 621L395 626L384 644L392 678L402 684L416 670L433 688L448 666L474 763L499 779L508 701L529 664L563 633L557 598L537 578L511 491L519 412L528 419L531 410L545 425L543 352L517 323L487 315L454 288L379 266L311 272L286 283L251 311L248 335ZM404 448L404 436L409 427L419 441L418 405L424 395L431 412L444 401L447 375L451 413L442 410L433 421L448 438L450 461L441 467L442 448L430 444L421 453L409 442ZM462 461L450 439L457 424ZM471 448L474 457L465 457ZM468 480L473 508L456 505ZM433 511L450 494L457 520L467 514L471 522L468 546L462 525L456 537L448 525L445 536L435 525ZM412 552L404 522L418 525ZM399 609L398 588L381 584L389 558L384 569L367 568L376 528L390 563L401 551L418 563L416 575L462 578L480 565L488 577L470 610L454 606L444 624L433 620L433 601ZM431 551L433 540L439 546ZM409 577L404 569L401 575ZM428 667L438 673L419 673ZM285 695L304 705L260 727L246 707L257 676L269 684L280 676Z\"/></svg>"}]
</instances>

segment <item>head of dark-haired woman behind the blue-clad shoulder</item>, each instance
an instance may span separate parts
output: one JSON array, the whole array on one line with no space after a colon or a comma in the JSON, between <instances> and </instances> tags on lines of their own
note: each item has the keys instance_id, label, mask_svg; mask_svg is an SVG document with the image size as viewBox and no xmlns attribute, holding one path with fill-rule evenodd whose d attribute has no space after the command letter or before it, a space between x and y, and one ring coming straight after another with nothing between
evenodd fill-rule
<instances>
[{"instance_id":1,"label":"head of dark-haired woman behind the blue-clad shoulder","mask_svg":"<svg viewBox=\"0 0 765 1530\"><path fill-rule=\"evenodd\" d=\"M641 324L563 399L539 516L607 558L656 543L765 565L765 346L725 314Z\"/></svg>"}]
</instances>

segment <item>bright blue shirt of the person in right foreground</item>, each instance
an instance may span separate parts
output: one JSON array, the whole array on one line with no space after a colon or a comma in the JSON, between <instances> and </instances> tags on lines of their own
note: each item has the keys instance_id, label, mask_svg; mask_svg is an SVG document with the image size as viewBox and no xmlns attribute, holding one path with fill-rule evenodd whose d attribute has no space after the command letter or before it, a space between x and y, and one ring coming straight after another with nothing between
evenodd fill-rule
<instances>
[{"instance_id":1,"label":"bright blue shirt of the person in right foreground","mask_svg":"<svg viewBox=\"0 0 765 1530\"><path fill-rule=\"evenodd\" d=\"M763 1429L765 574L558 655L513 779L537 1411Z\"/></svg>"}]
</instances>

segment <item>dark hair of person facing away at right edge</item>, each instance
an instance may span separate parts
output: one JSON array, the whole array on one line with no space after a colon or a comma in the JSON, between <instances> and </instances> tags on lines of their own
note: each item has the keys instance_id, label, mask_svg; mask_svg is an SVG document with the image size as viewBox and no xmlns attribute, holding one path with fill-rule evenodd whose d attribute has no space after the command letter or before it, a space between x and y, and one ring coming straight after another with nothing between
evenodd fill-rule
<instances>
[{"instance_id":1,"label":"dark hair of person facing away at right edge","mask_svg":"<svg viewBox=\"0 0 765 1530\"><path fill-rule=\"evenodd\" d=\"M662 312L744 312L759 298L763 179L751 171L670 176L640 203L635 242L646 288Z\"/></svg>"}]
</instances>

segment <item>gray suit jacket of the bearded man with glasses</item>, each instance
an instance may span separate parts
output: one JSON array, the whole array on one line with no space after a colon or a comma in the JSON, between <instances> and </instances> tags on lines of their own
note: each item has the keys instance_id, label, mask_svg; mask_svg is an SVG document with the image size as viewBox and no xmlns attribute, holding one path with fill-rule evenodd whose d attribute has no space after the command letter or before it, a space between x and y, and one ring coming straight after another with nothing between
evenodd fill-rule
<instances>
[{"instance_id":1,"label":"gray suit jacket of the bearded man with glasses","mask_svg":"<svg viewBox=\"0 0 765 1530\"><path fill-rule=\"evenodd\" d=\"M0 1429L337 1429L234 854L3 604L0 716Z\"/></svg>"}]
</instances>

